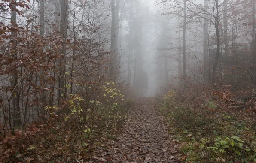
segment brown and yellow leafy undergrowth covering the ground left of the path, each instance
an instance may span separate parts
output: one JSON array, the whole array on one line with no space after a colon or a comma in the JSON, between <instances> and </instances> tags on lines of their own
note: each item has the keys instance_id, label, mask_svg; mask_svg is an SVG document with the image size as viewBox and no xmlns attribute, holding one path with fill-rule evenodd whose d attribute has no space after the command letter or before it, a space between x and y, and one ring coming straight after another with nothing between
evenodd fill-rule
<instances>
[{"instance_id":1,"label":"brown and yellow leafy undergrowth covering the ground left of the path","mask_svg":"<svg viewBox=\"0 0 256 163\"><path fill-rule=\"evenodd\" d=\"M32 123L0 135L0 162L83 162L106 139L115 139L133 100L115 83L98 89L97 100L69 94L62 108L46 106L46 123Z\"/></svg>"}]
</instances>

